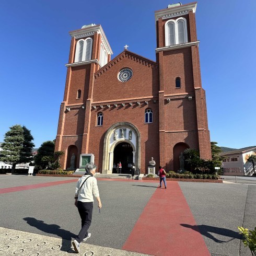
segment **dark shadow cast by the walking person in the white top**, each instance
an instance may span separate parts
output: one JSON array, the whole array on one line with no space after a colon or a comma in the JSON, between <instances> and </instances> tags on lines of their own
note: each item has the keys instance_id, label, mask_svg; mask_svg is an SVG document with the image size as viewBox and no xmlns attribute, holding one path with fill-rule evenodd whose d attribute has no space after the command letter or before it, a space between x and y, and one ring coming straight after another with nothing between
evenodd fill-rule
<instances>
[{"instance_id":1,"label":"dark shadow cast by the walking person in the white top","mask_svg":"<svg viewBox=\"0 0 256 256\"><path fill-rule=\"evenodd\" d=\"M61 251L66 251L69 253L74 252L73 250L71 250L71 240L72 238L75 238L76 235L73 234L72 232L62 229L59 225L56 225L56 224L46 224L43 222L43 220L38 220L36 218L26 217L23 219L26 220L26 222L32 227L36 227L37 229L45 233L49 233L49 234L53 234L58 237L61 237L62 238L62 246L60 249Z\"/></svg>"}]
</instances>

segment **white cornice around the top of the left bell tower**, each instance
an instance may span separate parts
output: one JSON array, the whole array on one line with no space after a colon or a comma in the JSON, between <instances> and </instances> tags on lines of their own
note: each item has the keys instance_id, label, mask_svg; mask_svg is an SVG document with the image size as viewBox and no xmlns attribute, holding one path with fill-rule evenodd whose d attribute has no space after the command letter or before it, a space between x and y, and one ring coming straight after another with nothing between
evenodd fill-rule
<instances>
[{"instance_id":1,"label":"white cornice around the top of the left bell tower","mask_svg":"<svg viewBox=\"0 0 256 256\"><path fill-rule=\"evenodd\" d=\"M106 49L108 54L112 55L113 54L112 49L109 45L109 42L107 40L107 37L106 37L104 31L100 25L74 30L74 31L69 32L69 34L71 35L71 37L75 37L75 39L78 39L78 38L92 36L95 32L101 34L101 41L102 41L102 44L104 45L104 48Z\"/></svg>"}]
</instances>

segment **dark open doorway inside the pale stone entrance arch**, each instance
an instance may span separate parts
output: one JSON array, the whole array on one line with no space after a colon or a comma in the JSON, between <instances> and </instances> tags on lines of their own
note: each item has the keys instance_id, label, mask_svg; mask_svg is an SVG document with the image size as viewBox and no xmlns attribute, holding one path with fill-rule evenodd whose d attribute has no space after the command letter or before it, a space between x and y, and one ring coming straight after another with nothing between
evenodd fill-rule
<instances>
[{"instance_id":1,"label":"dark open doorway inside the pale stone entrance arch","mask_svg":"<svg viewBox=\"0 0 256 256\"><path fill-rule=\"evenodd\" d=\"M122 173L130 173L130 165L133 163L132 145L127 142L122 142L115 146L113 162L116 165L118 164L118 162L121 162ZM116 171L113 170L113 172Z\"/></svg>"}]
</instances>

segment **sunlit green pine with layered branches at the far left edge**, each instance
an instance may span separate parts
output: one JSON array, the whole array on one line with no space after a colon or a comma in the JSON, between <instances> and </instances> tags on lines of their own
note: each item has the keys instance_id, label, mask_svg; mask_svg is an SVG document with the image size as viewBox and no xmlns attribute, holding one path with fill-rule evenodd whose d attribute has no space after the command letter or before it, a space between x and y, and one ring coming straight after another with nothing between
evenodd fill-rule
<instances>
[{"instance_id":1,"label":"sunlit green pine with layered branches at the far left edge","mask_svg":"<svg viewBox=\"0 0 256 256\"><path fill-rule=\"evenodd\" d=\"M12 165L11 173L14 173L15 167L20 163L21 150L24 143L24 130L20 125L10 127L6 132L4 143L2 144L3 150L1 151L0 160L8 165Z\"/></svg>"}]
</instances>

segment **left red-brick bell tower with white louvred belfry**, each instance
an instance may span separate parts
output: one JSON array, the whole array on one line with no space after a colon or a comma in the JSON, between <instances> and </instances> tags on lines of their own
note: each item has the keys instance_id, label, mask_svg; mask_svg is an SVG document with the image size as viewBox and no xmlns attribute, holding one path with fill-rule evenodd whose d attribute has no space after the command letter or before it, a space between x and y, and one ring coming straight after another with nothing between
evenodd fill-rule
<instances>
[{"instance_id":1,"label":"left red-brick bell tower with white louvred belfry","mask_svg":"<svg viewBox=\"0 0 256 256\"><path fill-rule=\"evenodd\" d=\"M55 151L65 153L61 158L63 169L71 167L69 159L73 155L73 167L78 168L80 154L88 153L94 74L110 61L113 54L100 25L83 26L69 34L71 47L55 143Z\"/></svg>"}]
</instances>

